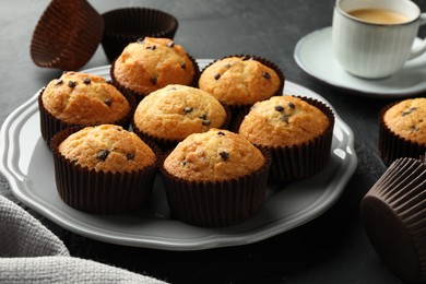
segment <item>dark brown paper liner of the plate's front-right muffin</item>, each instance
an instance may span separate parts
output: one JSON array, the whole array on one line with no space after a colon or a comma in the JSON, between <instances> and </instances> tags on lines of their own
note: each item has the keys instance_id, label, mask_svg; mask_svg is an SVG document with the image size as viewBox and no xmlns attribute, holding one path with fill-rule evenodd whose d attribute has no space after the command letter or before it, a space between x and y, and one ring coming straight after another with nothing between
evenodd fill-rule
<instances>
[{"instance_id":1,"label":"dark brown paper liner of the plate's front-right muffin","mask_svg":"<svg viewBox=\"0 0 426 284\"><path fill-rule=\"evenodd\" d=\"M257 171L227 181L197 182L169 175L161 162L159 171L168 205L180 221L202 227L232 226L253 216L264 204L271 158Z\"/></svg>"}]
</instances>

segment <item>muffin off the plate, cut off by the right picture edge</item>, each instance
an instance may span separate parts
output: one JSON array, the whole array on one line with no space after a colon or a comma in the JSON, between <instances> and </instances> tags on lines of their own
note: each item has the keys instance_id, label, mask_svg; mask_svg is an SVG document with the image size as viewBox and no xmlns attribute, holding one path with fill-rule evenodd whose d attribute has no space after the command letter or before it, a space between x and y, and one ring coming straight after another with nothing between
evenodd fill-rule
<instances>
[{"instance_id":1,"label":"muffin off the plate, cut off by the right picture edge","mask_svg":"<svg viewBox=\"0 0 426 284\"><path fill-rule=\"evenodd\" d=\"M389 166L399 157L418 157L426 151L426 98L409 98L379 114L379 151Z\"/></svg>"}]
</instances>

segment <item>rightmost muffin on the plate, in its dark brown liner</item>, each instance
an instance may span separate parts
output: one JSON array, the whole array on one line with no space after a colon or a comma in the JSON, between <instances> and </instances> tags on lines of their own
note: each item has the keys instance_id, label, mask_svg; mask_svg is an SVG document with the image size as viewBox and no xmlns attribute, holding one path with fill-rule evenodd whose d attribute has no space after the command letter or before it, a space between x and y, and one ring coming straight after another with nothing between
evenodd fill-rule
<instances>
[{"instance_id":1,"label":"rightmost muffin on the plate, in its dark brown liner","mask_svg":"<svg viewBox=\"0 0 426 284\"><path fill-rule=\"evenodd\" d=\"M296 96L258 102L238 133L272 154L270 179L289 182L320 171L328 163L334 115L323 103Z\"/></svg>"}]
</instances>

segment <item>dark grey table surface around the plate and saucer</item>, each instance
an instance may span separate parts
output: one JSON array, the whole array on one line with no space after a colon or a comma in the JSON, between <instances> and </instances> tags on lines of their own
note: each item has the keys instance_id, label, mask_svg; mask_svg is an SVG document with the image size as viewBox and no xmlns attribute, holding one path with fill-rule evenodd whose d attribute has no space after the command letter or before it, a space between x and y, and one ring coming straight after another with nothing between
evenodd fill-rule
<instances>
[{"instance_id":1,"label":"dark grey table surface around the plate and saucer","mask_svg":"<svg viewBox=\"0 0 426 284\"><path fill-rule=\"evenodd\" d=\"M426 1L415 2L426 11ZM1 3L0 123L3 123L15 108L58 78L61 70L36 67L29 56L34 27L49 1ZM63 240L72 256L171 283L401 283L382 264L358 216L362 198L386 169L378 153L377 117L380 108L392 99L357 96L327 85L301 71L293 58L303 36L331 25L333 0L90 0L90 3L99 13L122 7L147 7L174 14L179 20L175 40L194 58L251 54L274 61L287 80L328 99L352 128L357 169L342 197L318 218L256 244L201 251L133 248L93 240L61 228L20 203L2 176L1 194L39 218ZM99 46L84 68L107 63Z\"/></svg>"}]
</instances>

